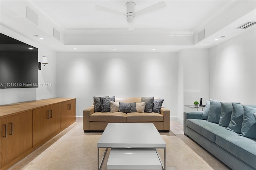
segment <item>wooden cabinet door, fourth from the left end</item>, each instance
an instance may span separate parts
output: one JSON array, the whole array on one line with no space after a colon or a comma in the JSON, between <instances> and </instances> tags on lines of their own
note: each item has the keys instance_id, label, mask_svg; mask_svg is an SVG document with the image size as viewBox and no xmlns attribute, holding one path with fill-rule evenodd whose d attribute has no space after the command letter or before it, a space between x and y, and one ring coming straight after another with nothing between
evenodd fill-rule
<instances>
[{"instance_id":1,"label":"wooden cabinet door, fourth from the left end","mask_svg":"<svg viewBox=\"0 0 256 170\"><path fill-rule=\"evenodd\" d=\"M60 130L61 104L58 103L55 105L50 105L49 110L50 110L49 135L52 135L58 130Z\"/></svg>"}]
</instances>

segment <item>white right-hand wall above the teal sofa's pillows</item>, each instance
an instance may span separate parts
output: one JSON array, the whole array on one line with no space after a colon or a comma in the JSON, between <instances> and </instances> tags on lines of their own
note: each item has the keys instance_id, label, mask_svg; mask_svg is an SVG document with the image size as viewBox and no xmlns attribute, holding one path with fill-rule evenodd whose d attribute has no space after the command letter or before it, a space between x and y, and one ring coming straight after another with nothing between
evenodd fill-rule
<instances>
[{"instance_id":1,"label":"white right-hand wall above the teal sofa's pillows","mask_svg":"<svg viewBox=\"0 0 256 170\"><path fill-rule=\"evenodd\" d=\"M256 104L256 33L252 29L210 49L210 98Z\"/></svg>"}]
</instances>

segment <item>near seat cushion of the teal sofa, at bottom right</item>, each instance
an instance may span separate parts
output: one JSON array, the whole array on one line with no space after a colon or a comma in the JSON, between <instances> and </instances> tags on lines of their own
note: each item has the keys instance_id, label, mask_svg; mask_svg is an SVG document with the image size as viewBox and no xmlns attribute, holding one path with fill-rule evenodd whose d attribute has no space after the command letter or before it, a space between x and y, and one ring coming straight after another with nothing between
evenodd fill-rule
<instances>
[{"instance_id":1,"label":"near seat cushion of the teal sofa, at bottom right","mask_svg":"<svg viewBox=\"0 0 256 170\"><path fill-rule=\"evenodd\" d=\"M215 143L256 169L256 140L238 135L217 134Z\"/></svg>"}]
</instances>

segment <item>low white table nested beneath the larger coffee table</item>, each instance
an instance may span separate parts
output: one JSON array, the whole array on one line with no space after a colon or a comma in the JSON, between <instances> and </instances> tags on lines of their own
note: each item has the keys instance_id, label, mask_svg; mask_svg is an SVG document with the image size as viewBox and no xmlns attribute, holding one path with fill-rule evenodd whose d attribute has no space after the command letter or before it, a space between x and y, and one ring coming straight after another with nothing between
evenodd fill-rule
<instances>
[{"instance_id":1,"label":"low white table nested beneath the larger coffee table","mask_svg":"<svg viewBox=\"0 0 256 170\"><path fill-rule=\"evenodd\" d=\"M154 148L111 148L107 170L162 170L162 164Z\"/></svg>"}]
</instances>

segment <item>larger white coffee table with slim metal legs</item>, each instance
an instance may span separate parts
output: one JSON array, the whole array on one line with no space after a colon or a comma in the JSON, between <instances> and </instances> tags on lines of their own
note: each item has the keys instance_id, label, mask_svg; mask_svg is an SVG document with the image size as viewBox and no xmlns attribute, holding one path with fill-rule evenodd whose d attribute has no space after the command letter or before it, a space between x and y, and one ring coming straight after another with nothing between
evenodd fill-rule
<instances>
[{"instance_id":1,"label":"larger white coffee table with slim metal legs","mask_svg":"<svg viewBox=\"0 0 256 170\"><path fill-rule=\"evenodd\" d=\"M112 153L110 151L109 159L111 160L109 163L109 168L122 169L120 167L125 166L125 164L122 164L120 162L116 164L115 161L112 159L112 158L115 158L115 156L117 155L119 156L120 154L122 155L124 151L123 149L125 148L126 149L136 148L137 149L136 152L144 155L149 154L149 152L147 152L148 149L154 149L157 157L155 157L153 154L151 156L154 159L156 158L155 159L156 164L158 164L157 161L159 160L163 169L165 169L165 166L166 166L166 143L164 142L162 136L159 134L158 130L156 129L153 123L109 123L105 128L97 145L98 145L98 169L100 169L101 167L107 148L113 148L114 150L114 152ZM106 148L101 162L99 161L99 148ZM164 149L164 166L158 156L156 148ZM128 150L127 152L130 153ZM150 152L153 153L152 150L150 150ZM134 159L133 156L130 156L129 158L131 158L131 160ZM143 167L143 169L147 169L146 166L142 166L142 164L144 164L144 160L141 160L138 162L141 162L141 164L140 163L130 164L129 165L130 167L126 166L124 168L140 169Z\"/></svg>"}]
</instances>

